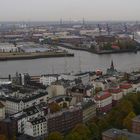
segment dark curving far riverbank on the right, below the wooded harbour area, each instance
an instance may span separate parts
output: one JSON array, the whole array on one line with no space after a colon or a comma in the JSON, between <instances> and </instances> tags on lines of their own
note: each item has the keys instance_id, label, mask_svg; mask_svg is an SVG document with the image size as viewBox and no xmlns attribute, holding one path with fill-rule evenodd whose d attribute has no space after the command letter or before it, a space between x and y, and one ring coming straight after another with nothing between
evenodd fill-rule
<instances>
[{"instance_id":1,"label":"dark curving far riverbank on the right, below the wooded harbour area","mask_svg":"<svg viewBox=\"0 0 140 140\"><path fill-rule=\"evenodd\" d=\"M71 44L59 44L61 47L67 48L67 49L72 49L72 50L80 50L80 51L87 51L90 53L94 53L94 54L115 54L115 53L137 53L137 51L139 51L139 49L134 50L134 49L123 49L123 50L101 50L101 51L95 51L93 49L90 48L81 48L81 47L75 47L74 45Z\"/></svg>"}]
</instances>

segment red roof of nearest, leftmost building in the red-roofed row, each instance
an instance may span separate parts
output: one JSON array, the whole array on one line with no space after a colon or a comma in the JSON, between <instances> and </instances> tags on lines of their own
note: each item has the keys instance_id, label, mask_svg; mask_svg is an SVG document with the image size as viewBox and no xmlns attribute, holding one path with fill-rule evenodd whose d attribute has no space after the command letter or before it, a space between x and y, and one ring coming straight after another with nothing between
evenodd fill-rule
<instances>
[{"instance_id":1,"label":"red roof of nearest, leftmost building in the red-roofed row","mask_svg":"<svg viewBox=\"0 0 140 140\"><path fill-rule=\"evenodd\" d=\"M103 91L102 93L99 93L95 96L95 100L104 100L110 96L112 96L110 92Z\"/></svg>"}]
</instances>

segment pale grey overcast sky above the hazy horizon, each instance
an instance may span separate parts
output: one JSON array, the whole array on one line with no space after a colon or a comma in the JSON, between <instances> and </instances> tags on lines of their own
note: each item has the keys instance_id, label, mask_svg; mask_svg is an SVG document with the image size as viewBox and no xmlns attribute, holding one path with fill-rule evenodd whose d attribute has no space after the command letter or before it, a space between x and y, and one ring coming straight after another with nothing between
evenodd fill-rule
<instances>
[{"instance_id":1,"label":"pale grey overcast sky above the hazy horizon","mask_svg":"<svg viewBox=\"0 0 140 140\"><path fill-rule=\"evenodd\" d=\"M0 21L140 20L140 0L0 0Z\"/></svg>"}]
</instances>

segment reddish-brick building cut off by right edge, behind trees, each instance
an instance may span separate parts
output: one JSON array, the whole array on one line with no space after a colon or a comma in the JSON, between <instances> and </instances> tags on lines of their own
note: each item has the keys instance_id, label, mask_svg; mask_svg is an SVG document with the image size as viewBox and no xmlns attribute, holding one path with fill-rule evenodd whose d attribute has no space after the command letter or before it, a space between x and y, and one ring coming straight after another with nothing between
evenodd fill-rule
<instances>
[{"instance_id":1,"label":"reddish-brick building cut off by right edge, behind trees","mask_svg":"<svg viewBox=\"0 0 140 140\"><path fill-rule=\"evenodd\" d=\"M140 134L140 115L132 119L132 132Z\"/></svg>"}]
</instances>

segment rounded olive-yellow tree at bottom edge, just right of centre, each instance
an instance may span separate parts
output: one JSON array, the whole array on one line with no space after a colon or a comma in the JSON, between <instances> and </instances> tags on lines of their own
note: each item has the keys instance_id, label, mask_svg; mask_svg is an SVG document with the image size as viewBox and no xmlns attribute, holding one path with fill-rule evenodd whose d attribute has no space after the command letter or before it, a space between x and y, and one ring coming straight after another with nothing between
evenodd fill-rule
<instances>
[{"instance_id":1,"label":"rounded olive-yellow tree at bottom edge, just right of centre","mask_svg":"<svg viewBox=\"0 0 140 140\"><path fill-rule=\"evenodd\" d=\"M90 137L90 130L88 127L84 124L77 124L75 128L72 130L72 133L78 133L82 139L81 140L87 140Z\"/></svg>"}]
</instances>

